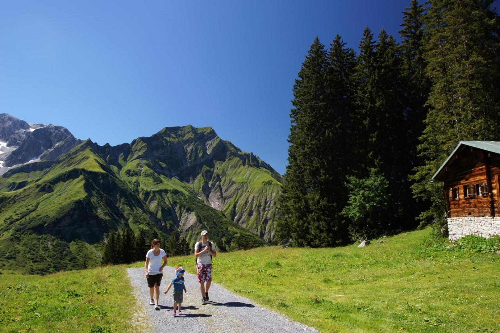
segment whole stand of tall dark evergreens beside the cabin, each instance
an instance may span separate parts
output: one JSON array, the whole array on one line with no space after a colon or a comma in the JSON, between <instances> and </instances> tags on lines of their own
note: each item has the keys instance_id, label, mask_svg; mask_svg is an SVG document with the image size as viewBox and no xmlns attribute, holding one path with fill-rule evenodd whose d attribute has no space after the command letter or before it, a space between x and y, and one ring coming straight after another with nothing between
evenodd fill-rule
<instances>
[{"instance_id":1,"label":"whole stand of tall dark evergreens beside the cabin","mask_svg":"<svg viewBox=\"0 0 500 333\"><path fill-rule=\"evenodd\" d=\"M500 140L491 0L412 0L399 41L315 38L293 85L276 241L324 247L445 224L431 177L460 141Z\"/></svg>"}]
</instances>

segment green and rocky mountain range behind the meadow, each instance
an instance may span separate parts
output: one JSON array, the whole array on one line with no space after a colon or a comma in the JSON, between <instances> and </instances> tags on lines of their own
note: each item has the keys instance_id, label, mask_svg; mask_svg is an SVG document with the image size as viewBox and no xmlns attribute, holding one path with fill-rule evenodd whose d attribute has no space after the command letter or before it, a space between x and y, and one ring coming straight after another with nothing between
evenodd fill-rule
<instances>
[{"instance_id":1,"label":"green and rocky mountain range behind the meadow","mask_svg":"<svg viewBox=\"0 0 500 333\"><path fill-rule=\"evenodd\" d=\"M10 265L65 269L54 257L98 256L105 235L123 228L177 230L191 246L207 229L222 251L273 239L281 176L211 127L100 146L0 114L0 152L0 258Z\"/></svg>"}]
</instances>

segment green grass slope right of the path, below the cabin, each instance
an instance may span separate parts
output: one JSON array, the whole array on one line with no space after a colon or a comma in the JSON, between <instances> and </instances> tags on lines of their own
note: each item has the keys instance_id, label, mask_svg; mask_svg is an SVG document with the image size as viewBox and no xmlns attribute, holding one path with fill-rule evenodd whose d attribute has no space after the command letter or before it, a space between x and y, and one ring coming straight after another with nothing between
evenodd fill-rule
<instances>
[{"instance_id":1,"label":"green grass slope right of the path, below the cabin","mask_svg":"<svg viewBox=\"0 0 500 333\"><path fill-rule=\"evenodd\" d=\"M320 332L500 332L500 255L446 249L430 233L219 253L213 281ZM168 260L190 273L193 262Z\"/></svg>"}]
</instances>

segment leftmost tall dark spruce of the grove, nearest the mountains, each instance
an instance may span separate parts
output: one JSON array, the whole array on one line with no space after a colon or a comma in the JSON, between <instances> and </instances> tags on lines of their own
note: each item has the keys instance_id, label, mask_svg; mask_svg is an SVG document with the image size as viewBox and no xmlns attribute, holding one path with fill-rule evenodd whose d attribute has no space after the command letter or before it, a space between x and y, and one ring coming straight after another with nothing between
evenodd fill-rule
<instances>
[{"instance_id":1,"label":"leftmost tall dark spruce of the grove, nearest the mountains","mask_svg":"<svg viewBox=\"0 0 500 333\"><path fill-rule=\"evenodd\" d=\"M280 216L275 223L275 236L281 240L291 238L296 246L314 242L309 216L314 206L327 206L315 187L318 182L317 163L324 158L318 156L322 147L316 146L317 137L324 133L321 129L316 132L316 125L317 116L323 115L327 107L325 69L326 51L316 37L293 85L288 165L278 199ZM325 221L317 223L324 224Z\"/></svg>"}]
</instances>

